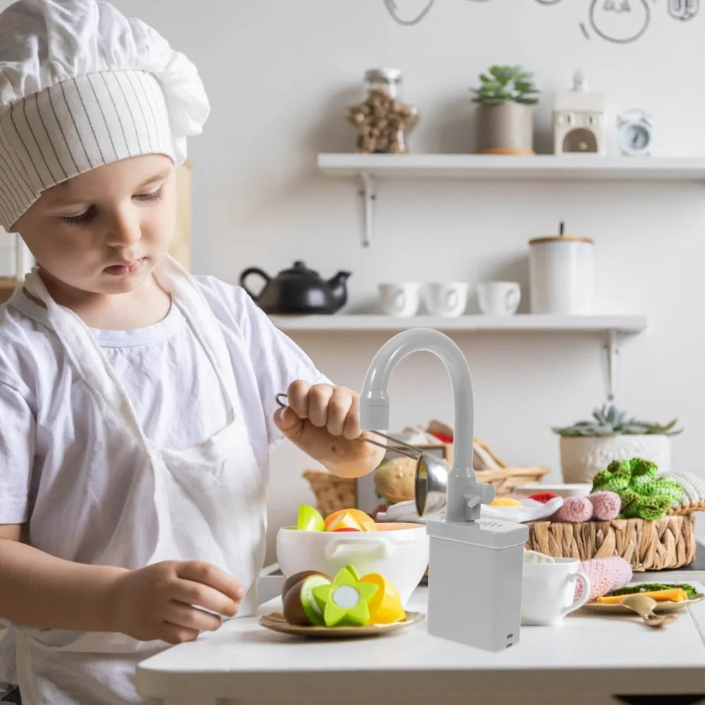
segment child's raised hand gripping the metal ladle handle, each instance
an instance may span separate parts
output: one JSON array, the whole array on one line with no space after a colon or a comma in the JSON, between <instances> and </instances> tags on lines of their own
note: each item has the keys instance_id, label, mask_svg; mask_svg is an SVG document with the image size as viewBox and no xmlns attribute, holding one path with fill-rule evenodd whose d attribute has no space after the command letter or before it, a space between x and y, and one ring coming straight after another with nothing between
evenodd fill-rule
<instances>
[{"instance_id":1,"label":"child's raised hand gripping the metal ladle handle","mask_svg":"<svg viewBox=\"0 0 705 705\"><path fill-rule=\"evenodd\" d=\"M288 406L274 423L298 448L339 477L362 477L384 458L384 448L360 441L360 395L348 387L296 380L286 391ZM375 439L376 440L376 439Z\"/></svg>"}]
</instances>

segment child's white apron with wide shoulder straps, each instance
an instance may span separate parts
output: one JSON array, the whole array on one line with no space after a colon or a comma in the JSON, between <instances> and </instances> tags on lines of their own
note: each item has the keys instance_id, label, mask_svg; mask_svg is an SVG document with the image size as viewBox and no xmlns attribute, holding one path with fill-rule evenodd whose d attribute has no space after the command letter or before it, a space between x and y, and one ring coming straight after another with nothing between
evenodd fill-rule
<instances>
[{"instance_id":1,"label":"child's white apron with wide shoulder straps","mask_svg":"<svg viewBox=\"0 0 705 705\"><path fill-rule=\"evenodd\" d=\"M221 389L213 390L213 403L228 407L226 427L188 450L157 448L145 437L87 326L56 305L36 271L25 280L29 293L47 306L49 324L92 387L111 434L123 434L125 443L137 443L143 450L144 462L135 473L114 537L96 563L135 568L168 559L204 560L243 585L246 596L238 616L252 615L264 561L266 479L247 436L233 363L216 318L196 283L171 257L157 278L216 369ZM16 632L23 705L149 702L135 692L135 667L168 646L119 634L11 628Z\"/></svg>"}]
</instances>

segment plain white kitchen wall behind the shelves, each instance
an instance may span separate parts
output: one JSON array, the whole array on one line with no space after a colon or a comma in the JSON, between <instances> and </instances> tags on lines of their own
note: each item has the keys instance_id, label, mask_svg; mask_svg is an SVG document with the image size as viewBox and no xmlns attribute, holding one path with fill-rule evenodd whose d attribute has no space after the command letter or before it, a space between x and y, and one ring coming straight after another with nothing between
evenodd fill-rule
<instances>
[{"instance_id":1,"label":"plain white kitchen wall behind the shelves","mask_svg":"<svg viewBox=\"0 0 705 705\"><path fill-rule=\"evenodd\" d=\"M704 472L702 185L386 183L364 250L353 187L321 176L315 162L318 152L353 149L342 112L362 98L362 74L376 66L400 68L404 97L418 106L412 151L472 151L469 87L491 63L535 72L540 151L551 149L553 90L569 87L582 68L589 87L608 92L611 123L640 107L654 116L656 153L705 154L705 8L680 23L666 0L630 0L635 15L649 3L651 23L637 42L619 45L594 32L584 38L580 22L591 0L437 0L415 27L394 23L382 0L114 1L196 63L212 100L204 135L190 143L194 271L235 283L246 266L274 274L294 259L326 276L350 269L350 309L369 305L376 284L391 279L474 286L501 277L526 285L527 241L565 219L568 233L596 240L603 309L649 315L648 330L623 350L618 403L662 422L678 417L685 433L675 440L675 468ZM424 4L398 0L406 17ZM295 339L326 374L359 387L386 334ZM598 341L510 333L456 339L474 376L475 434L505 461L549 465L550 479L559 479L550 426L603 402ZM453 420L446 373L428 355L401 364L391 398L394 427ZM273 456L272 536L299 501L313 501L300 477L307 465L291 446Z\"/></svg>"}]
</instances>

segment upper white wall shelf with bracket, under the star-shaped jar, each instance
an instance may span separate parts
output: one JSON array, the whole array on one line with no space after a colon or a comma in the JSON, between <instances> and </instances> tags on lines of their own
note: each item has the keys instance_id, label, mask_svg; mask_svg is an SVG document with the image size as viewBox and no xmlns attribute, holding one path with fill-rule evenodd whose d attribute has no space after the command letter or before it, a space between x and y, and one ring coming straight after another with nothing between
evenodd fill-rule
<instances>
[{"instance_id":1,"label":"upper white wall shelf with bracket, under the star-shaped jar","mask_svg":"<svg viewBox=\"0 0 705 705\"><path fill-rule=\"evenodd\" d=\"M327 176L355 178L364 205L362 244L372 240L373 206L383 178L482 180L693 181L705 183L705 157L601 157L595 154L319 154Z\"/></svg>"}]
</instances>

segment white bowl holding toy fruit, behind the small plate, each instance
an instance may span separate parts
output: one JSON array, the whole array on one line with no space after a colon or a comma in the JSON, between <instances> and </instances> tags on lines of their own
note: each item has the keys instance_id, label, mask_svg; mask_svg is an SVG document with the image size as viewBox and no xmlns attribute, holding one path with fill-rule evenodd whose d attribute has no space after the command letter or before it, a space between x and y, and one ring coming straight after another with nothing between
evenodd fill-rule
<instances>
[{"instance_id":1,"label":"white bowl holding toy fruit, behind the small plate","mask_svg":"<svg viewBox=\"0 0 705 705\"><path fill-rule=\"evenodd\" d=\"M376 532L298 531L283 527L276 536L276 560L285 578L302 570L333 577L345 565L358 575L379 572L407 601L429 565L425 525L379 524Z\"/></svg>"}]
</instances>

